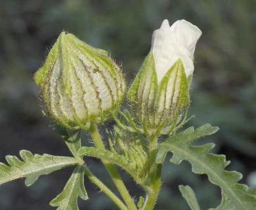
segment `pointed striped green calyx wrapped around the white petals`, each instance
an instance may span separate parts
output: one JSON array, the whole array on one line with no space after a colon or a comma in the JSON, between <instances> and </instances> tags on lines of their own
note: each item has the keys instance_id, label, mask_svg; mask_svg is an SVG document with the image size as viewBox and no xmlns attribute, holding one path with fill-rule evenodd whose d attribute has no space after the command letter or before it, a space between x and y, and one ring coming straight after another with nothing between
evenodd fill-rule
<instances>
[{"instance_id":1,"label":"pointed striped green calyx wrapped around the white petals","mask_svg":"<svg viewBox=\"0 0 256 210\"><path fill-rule=\"evenodd\" d=\"M148 54L127 98L134 105L135 117L148 133L154 133L159 127L178 124L182 119L181 111L190 103L188 79L181 59L158 83L154 56Z\"/></svg>"}]
</instances>

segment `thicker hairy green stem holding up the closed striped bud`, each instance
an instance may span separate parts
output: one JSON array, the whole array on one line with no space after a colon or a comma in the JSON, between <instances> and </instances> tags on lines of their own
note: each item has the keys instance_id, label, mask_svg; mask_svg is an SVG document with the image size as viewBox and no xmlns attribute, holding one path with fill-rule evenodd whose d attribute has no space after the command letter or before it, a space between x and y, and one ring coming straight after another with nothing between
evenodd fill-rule
<instances>
[{"instance_id":1,"label":"thicker hairy green stem holding up the closed striped bud","mask_svg":"<svg viewBox=\"0 0 256 210\"><path fill-rule=\"evenodd\" d=\"M91 134L91 137L93 138L93 141L95 142L96 148L105 150L105 146L102 142L102 138L100 137L100 133L98 133L98 129L94 123L91 124L89 132ZM116 167L109 161L102 160L102 163L105 165L106 169L108 169L108 173L110 173L110 176L112 177L114 183L116 184L116 187L119 190L127 207L130 210L137 209L133 199L131 198L127 188L125 187L125 184L123 183L123 180L119 176L119 174L116 170Z\"/></svg>"}]
</instances>

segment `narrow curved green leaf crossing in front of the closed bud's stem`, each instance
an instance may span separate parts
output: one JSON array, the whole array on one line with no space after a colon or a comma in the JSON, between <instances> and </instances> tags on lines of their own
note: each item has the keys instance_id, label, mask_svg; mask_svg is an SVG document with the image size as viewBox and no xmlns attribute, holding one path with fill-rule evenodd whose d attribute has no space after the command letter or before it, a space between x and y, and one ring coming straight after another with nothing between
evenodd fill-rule
<instances>
[{"instance_id":1,"label":"narrow curved green leaf crossing in front of the closed bud's stem","mask_svg":"<svg viewBox=\"0 0 256 210\"><path fill-rule=\"evenodd\" d=\"M116 164L127 171L127 173L129 173L139 184L142 183L143 179L140 177L137 165L133 164L133 161L125 156L109 150L100 150L95 147L87 146L83 146L80 150L78 150L78 154L110 161L111 163Z\"/></svg>"}]
</instances>

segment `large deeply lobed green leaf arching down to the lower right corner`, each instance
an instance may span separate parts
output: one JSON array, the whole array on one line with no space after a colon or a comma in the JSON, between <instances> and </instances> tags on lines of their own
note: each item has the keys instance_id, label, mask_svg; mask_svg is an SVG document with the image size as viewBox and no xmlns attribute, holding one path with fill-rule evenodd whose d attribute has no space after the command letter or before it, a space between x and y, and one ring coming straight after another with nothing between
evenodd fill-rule
<instances>
[{"instance_id":1,"label":"large deeply lobed green leaf arching down to the lower right corner","mask_svg":"<svg viewBox=\"0 0 256 210\"><path fill-rule=\"evenodd\" d=\"M214 144L203 144L193 146L190 142L211 135L218 131L217 127L206 124L194 130L190 127L173 137L167 138L159 146L157 163L163 163L167 152L172 152L172 163L179 164L182 160L187 160L192 165L192 171L197 174L205 174L208 179L221 187L221 191L231 201L234 209L255 209L255 195L248 191L244 184L237 183L242 179L242 175L236 171L226 171L225 167L230 163L226 161L224 155L211 154L209 151Z\"/></svg>"}]
</instances>

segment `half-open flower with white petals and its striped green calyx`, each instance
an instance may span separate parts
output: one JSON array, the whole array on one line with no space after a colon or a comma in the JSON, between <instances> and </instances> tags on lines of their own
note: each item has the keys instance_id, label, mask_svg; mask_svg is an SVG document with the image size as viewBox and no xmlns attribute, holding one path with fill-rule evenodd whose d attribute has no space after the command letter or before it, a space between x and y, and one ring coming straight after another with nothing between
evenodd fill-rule
<instances>
[{"instance_id":1,"label":"half-open flower with white petals and its striped green calyx","mask_svg":"<svg viewBox=\"0 0 256 210\"><path fill-rule=\"evenodd\" d=\"M181 110L188 108L192 57L200 35L185 20L171 27L164 20L154 31L151 51L128 91L135 116L148 131L172 125Z\"/></svg>"}]
</instances>

